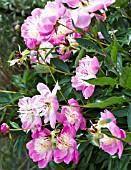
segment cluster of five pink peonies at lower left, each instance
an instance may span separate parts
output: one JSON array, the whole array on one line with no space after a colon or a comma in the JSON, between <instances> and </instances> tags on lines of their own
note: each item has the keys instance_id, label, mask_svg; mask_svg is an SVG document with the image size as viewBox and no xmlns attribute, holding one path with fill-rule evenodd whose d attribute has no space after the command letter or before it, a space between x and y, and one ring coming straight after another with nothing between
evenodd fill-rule
<instances>
[{"instance_id":1,"label":"cluster of five pink peonies at lower left","mask_svg":"<svg viewBox=\"0 0 131 170\"><path fill-rule=\"evenodd\" d=\"M69 106L62 106L59 113L56 97L57 90L60 90L58 83L52 92L43 83L37 85L37 90L40 95L24 97L18 103L22 128L25 132L32 132L33 139L26 145L30 157L38 162L39 168L44 168L52 157L57 163L64 161L69 164L73 161L77 164L79 154L74 138L79 128L85 130L86 127L78 102L70 99ZM42 120L45 124L50 122L54 130L42 129ZM56 120L63 124L60 132L55 129Z\"/></svg>"}]
</instances>

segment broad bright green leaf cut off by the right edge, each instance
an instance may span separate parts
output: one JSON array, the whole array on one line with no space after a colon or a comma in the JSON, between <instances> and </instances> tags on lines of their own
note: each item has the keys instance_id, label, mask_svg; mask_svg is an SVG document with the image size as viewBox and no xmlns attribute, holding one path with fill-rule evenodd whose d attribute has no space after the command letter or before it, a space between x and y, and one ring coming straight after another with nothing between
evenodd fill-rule
<instances>
[{"instance_id":1,"label":"broad bright green leaf cut off by the right edge","mask_svg":"<svg viewBox=\"0 0 131 170\"><path fill-rule=\"evenodd\" d=\"M124 67L120 76L120 85L131 89L131 67Z\"/></svg>"}]
</instances>

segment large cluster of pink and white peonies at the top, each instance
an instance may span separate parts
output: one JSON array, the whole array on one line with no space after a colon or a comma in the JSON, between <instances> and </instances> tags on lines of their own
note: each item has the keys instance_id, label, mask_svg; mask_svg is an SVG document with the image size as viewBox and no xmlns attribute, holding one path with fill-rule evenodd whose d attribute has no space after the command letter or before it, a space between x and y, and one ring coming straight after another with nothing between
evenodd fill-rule
<instances>
[{"instance_id":1,"label":"large cluster of pink and white peonies at the top","mask_svg":"<svg viewBox=\"0 0 131 170\"><path fill-rule=\"evenodd\" d=\"M82 36L75 30L74 25L86 32L91 18L96 17L97 20L104 21L106 19L104 10L114 2L115 0L100 2L96 0L55 0L54 2L48 1L44 9L34 9L21 27L21 36L31 50L31 61L49 63L50 57L53 56L48 56L49 59L46 60L46 54L49 48L54 47L57 47L55 52L60 59L68 59L78 47L75 38ZM68 5L69 8L67 9L63 4ZM101 15L95 13L97 11L100 11ZM42 52L41 48L45 48L45 51ZM42 53L41 58L38 57L38 52Z\"/></svg>"}]
</instances>

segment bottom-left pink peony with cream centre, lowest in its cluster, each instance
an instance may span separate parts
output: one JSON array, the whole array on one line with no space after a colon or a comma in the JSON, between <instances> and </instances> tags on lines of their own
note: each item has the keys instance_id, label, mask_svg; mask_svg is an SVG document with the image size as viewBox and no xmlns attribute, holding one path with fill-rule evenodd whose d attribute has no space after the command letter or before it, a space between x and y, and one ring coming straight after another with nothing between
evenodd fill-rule
<instances>
[{"instance_id":1,"label":"bottom-left pink peony with cream centre, lowest in its cluster","mask_svg":"<svg viewBox=\"0 0 131 170\"><path fill-rule=\"evenodd\" d=\"M50 130L44 128L32 135L32 140L26 144L29 156L34 162L38 162L39 168L44 168L52 160L53 145L50 141Z\"/></svg>"}]
</instances>

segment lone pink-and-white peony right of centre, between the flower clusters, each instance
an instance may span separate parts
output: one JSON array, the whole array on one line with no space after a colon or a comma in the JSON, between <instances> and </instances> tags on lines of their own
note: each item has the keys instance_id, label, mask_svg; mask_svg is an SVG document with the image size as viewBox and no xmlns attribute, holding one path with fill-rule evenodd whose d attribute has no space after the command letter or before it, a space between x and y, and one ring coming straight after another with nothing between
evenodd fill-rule
<instances>
[{"instance_id":1,"label":"lone pink-and-white peony right of centre, between the flower clusters","mask_svg":"<svg viewBox=\"0 0 131 170\"><path fill-rule=\"evenodd\" d=\"M96 78L96 73L99 70L99 61L96 57L90 58L86 56L79 61L79 66L76 68L76 75L72 77L72 86L76 90L82 90L85 99L88 99L94 92L94 85L87 83L85 80Z\"/></svg>"}]
</instances>

